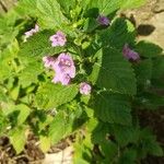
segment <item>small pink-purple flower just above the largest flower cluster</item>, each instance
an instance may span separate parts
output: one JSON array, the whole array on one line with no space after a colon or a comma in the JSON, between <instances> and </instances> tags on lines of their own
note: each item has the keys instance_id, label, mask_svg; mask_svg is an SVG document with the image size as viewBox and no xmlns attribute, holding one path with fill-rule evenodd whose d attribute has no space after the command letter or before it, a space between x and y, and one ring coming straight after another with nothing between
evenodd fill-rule
<instances>
[{"instance_id":1,"label":"small pink-purple flower just above the largest flower cluster","mask_svg":"<svg viewBox=\"0 0 164 164\"><path fill-rule=\"evenodd\" d=\"M52 47L65 46L67 42L66 35L60 31L58 31L55 35L50 36L49 39L51 40Z\"/></svg>"}]
</instances>

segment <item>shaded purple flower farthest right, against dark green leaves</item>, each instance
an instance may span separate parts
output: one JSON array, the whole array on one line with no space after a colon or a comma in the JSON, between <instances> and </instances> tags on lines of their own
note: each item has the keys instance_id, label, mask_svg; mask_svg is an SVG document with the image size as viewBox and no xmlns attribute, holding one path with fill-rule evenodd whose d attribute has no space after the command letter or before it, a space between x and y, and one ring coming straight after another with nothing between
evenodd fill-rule
<instances>
[{"instance_id":1,"label":"shaded purple flower farthest right, against dark green leaves","mask_svg":"<svg viewBox=\"0 0 164 164\"><path fill-rule=\"evenodd\" d=\"M124 54L124 57L128 60L139 60L140 59L140 56L138 52L133 51L132 49L129 48L129 46L126 44L122 48L122 54Z\"/></svg>"}]
</instances>

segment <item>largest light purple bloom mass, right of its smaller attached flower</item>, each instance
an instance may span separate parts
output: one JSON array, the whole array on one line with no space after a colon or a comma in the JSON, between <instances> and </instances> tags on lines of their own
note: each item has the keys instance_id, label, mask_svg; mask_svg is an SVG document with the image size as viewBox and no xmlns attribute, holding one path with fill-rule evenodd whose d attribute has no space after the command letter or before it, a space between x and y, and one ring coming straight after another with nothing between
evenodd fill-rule
<instances>
[{"instance_id":1,"label":"largest light purple bloom mass, right of its smaller attached flower","mask_svg":"<svg viewBox=\"0 0 164 164\"><path fill-rule=\"evenodd\" d=\"M60 54L52 63L52 69L56 74L52 82L61 82L62 85L70 83L70 80L75 77L75 66L70 55Z\"/></svg>"}]
</instances>

